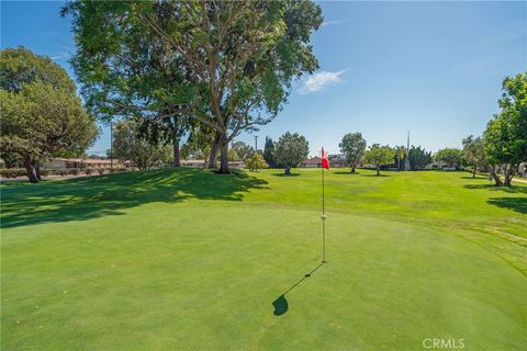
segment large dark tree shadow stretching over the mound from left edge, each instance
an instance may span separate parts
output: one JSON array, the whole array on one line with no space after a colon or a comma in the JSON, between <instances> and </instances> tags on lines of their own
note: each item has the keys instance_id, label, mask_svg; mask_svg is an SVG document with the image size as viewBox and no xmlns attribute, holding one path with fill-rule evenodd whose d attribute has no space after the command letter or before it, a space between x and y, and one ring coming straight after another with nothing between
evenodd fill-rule
<instances>
[{"instance_id":1,"label":"large dark tree shadow stretching over the mound from left edge","mask_svg":"<svg viewBox=\"0 0 527 351\"><path fill-rule=\"evenodd\" d=\"M146 203L188 199L242 201L265 180L236 172L218 176L206 170L167 168L86 177L40 184L2 185L2 228L40 223L83 220L121 215L121 210Z\"/></svg>"}]
</instances>

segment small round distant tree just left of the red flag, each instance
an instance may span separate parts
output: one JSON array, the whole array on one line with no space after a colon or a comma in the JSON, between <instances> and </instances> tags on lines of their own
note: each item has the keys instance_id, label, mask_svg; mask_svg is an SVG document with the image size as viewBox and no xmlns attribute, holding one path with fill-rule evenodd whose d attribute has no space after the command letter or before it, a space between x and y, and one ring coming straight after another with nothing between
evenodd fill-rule
<instances>
[{"instance_id":1,"label":"small round distant tree just left of the red flag","mask_svg":"<svg viewBox=\"0 0 527 351\"><path fill-rule=\"evenodd\" d=\"M285 133L278 139L274 155L277 163L284 168L287 174L291 168L299 166L310 154L310 144L304 136L294 133Z\"/></svg>"}]
</instances>

